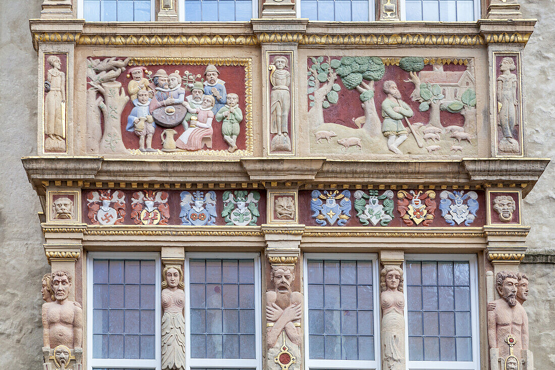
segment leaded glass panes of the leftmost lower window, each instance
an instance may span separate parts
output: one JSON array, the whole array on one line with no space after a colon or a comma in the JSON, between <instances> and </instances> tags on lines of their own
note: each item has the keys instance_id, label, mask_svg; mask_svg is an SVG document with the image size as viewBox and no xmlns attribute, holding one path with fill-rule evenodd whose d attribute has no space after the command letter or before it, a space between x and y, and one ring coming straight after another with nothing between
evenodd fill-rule
<instances>
[{"instance_id":1,"label":"leaded glass panes of the leftmost lower window","mask_svg":"<svg viewBox=\"0 0 555 370\"><path fill-rule=\"evenodd\" d=\"M155 358L155 261L94 259L93 358Z\"/></svg>"}]
</instances>

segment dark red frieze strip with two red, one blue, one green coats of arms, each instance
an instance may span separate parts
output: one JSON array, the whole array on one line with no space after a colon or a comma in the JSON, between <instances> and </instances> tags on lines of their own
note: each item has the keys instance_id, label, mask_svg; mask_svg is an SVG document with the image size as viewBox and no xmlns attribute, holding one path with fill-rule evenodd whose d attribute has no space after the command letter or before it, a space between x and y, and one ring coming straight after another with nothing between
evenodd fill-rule
<instances>
[{"instance_id":1,"label":"dark red frieze strip with two red, one blue, one green coats of arms","mask_svg":"<svg viewBox=\"0 0 555 370\"><path fill-rule=\"evenodd\" d=\"M91 189L83 194L83 219L90 225L260 226L266 222L262 190ZM104 204L108 211L102 211Z\"/></svg>"}]
</instances>

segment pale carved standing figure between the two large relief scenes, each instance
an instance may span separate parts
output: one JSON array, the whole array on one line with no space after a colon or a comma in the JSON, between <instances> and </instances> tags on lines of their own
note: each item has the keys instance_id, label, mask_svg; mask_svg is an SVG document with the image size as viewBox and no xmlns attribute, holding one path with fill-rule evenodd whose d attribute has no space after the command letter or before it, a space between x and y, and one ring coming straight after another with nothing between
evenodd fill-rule
<instances>
[{"instance_id":1,"label":"pale carved standing figure between the two large relief scenes","mask_svg":"<svg viewBox=\"0 0 555 370\"><path fill-rule=\"evenodd\" d=\"M289 108L291 98L289 86L291 85L291 73L286 71L287 58L277 56L270 65L270 133L287 136L289 128Z\"/></svg>"}]
</instances>

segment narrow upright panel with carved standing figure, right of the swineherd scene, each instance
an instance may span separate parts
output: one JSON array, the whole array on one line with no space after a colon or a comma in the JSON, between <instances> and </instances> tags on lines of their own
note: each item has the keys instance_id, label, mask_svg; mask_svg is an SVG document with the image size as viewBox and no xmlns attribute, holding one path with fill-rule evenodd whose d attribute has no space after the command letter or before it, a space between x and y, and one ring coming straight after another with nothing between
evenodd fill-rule
<instances>
[{"instance_id":1,"label":"narrow upright panel with carved standing figure, right of the swineherd scene","mask_svg":"<svg viewBox=\"0 0 555 370\"><path fill-rule=\"evenodd\" d=\"M520 54L494 53L493 86L496 108L496 152L499 156L522 156L522 84Z\"/></svg>"}]
</instances>

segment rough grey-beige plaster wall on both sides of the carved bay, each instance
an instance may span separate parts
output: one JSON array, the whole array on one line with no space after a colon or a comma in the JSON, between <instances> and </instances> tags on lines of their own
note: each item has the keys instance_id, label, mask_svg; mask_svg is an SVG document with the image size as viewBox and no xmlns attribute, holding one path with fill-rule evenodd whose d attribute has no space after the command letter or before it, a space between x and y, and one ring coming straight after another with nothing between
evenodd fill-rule
<instances>
[{"instance_id":1,"label":"rough grey-beige plaster wall on both sides of the carved bay","mask_svg":"<svg viewBox=\"0 0 555 370\"><path fill-rule=\"evenodd\" d=\"M38 197L20 158L36 154L37 54L28 18L37 18L41 0L0 1L0 368L41 368L40 279L49 271L42 251ZM526 18L537 18L536 31L523 53L527 88L525 132L528 156L555 157L555 2L521 0ZM524 217L532 230L530 253L555 253L555 163L524 199ZM555 368L555 265L523 264L531 281L525 303L536 369ZM5 318L5 319L4 319Z\"/></svg>"}]
</instances>

